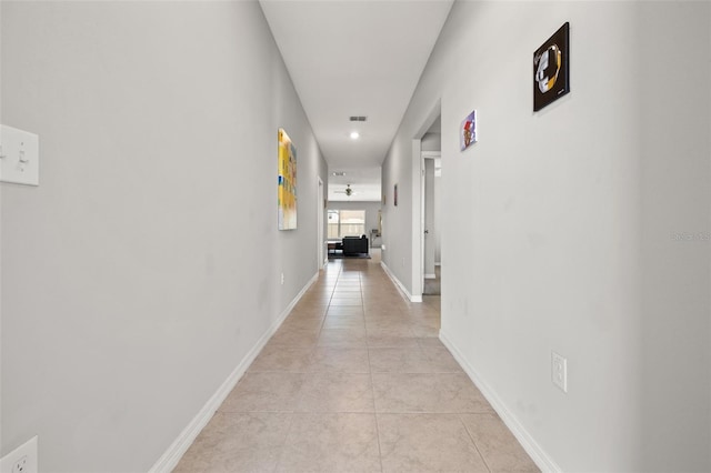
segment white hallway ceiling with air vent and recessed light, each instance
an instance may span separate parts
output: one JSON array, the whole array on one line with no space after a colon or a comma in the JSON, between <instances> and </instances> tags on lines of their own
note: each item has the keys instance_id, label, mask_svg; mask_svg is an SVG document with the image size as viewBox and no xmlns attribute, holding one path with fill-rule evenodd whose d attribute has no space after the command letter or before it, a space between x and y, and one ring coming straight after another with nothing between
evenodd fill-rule
<instances>
[{"instance_id":1,"label":"white hallway ceiling with air vent and recessed light","mask_svg":"<svg viewBox=\"0 0 711 473\"><path fill-rule=\"evenodd\" d=\"M329 173L329 200L381 200L380 165L452 0L260 0ZM367 117L351 122L352 115ZM358 131L360 138L350 138ZM342 191L350 183L357 194Z\"/></svg>"}]
</instances>

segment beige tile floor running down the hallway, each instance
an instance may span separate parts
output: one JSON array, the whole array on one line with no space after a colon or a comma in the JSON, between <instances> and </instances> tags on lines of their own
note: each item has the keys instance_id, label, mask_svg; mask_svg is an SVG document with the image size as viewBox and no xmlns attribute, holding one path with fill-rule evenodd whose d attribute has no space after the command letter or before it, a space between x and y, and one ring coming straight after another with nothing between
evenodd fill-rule
<instances>
[{"instance_id":1,"label":"beige tile floor running down the hallway","mask_svg":"<svg viewBox=\"0 0 711 473\"><path fill-rule=\"evenodd\" d=\"M174 472L539 471L379 260L336 260Z\"/></svg>"}]
</instances>

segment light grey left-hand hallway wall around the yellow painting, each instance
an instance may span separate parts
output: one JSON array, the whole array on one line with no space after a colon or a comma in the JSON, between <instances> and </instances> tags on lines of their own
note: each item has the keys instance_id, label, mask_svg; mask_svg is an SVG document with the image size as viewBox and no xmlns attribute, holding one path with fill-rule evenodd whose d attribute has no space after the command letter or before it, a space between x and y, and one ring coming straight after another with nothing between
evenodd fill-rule
<instances>
[{"instance_id":1,"label":"light grey left-hand hallway wall around the yellow painting","mask_svg":"<svg viewBox=\"0 0 711 473\"><path fill-rule=\"evenodd\" d=\"M0 188L2 454L39 434L42 471L148 471L316 274L326 163L257 2L1 11L1 121L42 160Z\"/></svg>"}]
</instances>

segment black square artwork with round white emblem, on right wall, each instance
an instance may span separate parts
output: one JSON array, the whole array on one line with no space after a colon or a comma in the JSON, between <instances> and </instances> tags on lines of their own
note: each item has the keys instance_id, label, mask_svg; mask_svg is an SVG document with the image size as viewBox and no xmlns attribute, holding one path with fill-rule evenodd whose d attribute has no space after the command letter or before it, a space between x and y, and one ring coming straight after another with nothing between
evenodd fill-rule
<instances>
[{"instance_id":1,"label":"black square artwork with round white emblem, on right wall","mask_svg":"<svg viewBox=\"0 0 711 473\"><path fill-rule=\"evenodd\" d=\"M570 23L533 53L533 111L570 92Z\"/></svg>"}]
</instances>

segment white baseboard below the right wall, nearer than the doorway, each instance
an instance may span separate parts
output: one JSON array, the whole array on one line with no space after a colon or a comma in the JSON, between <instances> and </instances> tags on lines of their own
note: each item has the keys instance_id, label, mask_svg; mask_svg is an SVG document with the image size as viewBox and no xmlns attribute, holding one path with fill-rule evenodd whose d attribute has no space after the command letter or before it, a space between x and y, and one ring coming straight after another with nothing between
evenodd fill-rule
<instances>
[{"instance_id":1,"label":"white baseboard below the right wall, nearer than the doorway","mask_svg":"<svg viewBox=\"0 0 711 473\"><path fill-rule=\"evenodd\" d=\"M513 436L519 441L525 453L529 454L535 465L544 472L562 472L561 467L545 453L541 445L535 442L533 436L523 427L521 422L513 415L513 413L507 407L507 405L497 395L493 389L487 384L487 382L477 373L461 354L461 352L454 346L454 344L447 336L444 331L440 330L440 341L452 353L454 360L462 366L464 372L469 375L471 381L477 385L481 394L489 401L489 404L497 411L497 414L501 417L503 423L509 427Z\"/></svg>"}]
</instances>

